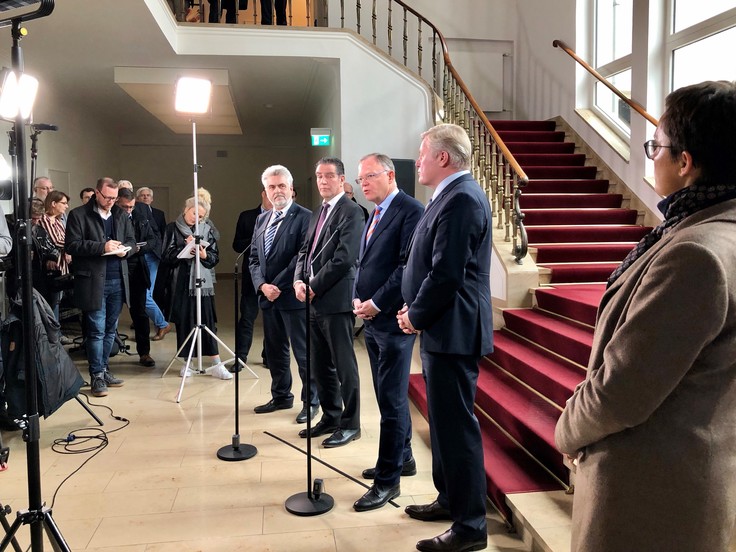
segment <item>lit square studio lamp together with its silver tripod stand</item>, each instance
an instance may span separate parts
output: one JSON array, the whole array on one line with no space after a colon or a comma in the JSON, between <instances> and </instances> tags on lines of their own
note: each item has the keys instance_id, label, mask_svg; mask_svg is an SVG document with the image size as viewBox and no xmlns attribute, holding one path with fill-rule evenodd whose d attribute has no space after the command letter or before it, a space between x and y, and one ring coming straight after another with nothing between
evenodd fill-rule
<instances>
[{"instance_id":1,"label":"lit square studio lamp together with its silver tripod stand","mask_svg":"<svg viewBox=\"0 0 736 552\"><path fill-rule=\"evenodd\" d=\"M206 79L198 79L191 77L182 77L179 79L176 85L176 110L182 113L189 113L192 115L203 114L209 110L210 96L212 94L212 83ZM199 185L197 175L199 173L200 165L197 163L197 122L192 117L192 158L194 160L194 296L196 305L196 324L189 332L189 335L183 341L183 344L174 353L174 357L169 362L169 365L161 374L163 378L171 368L171 365L179 357L179 353L184 349L187 342L191 339L191 345L189 346L189 354L187 360L184 363L184 374L185 376L181 379L181 385L179 386L179 393L176 396L176 402L181 402L181 395L184 392L184 384L186 383L186 371L192 364L192 358L194 356L194 349L197 349L197 369L196 373L204 374L205 371L202 369L202 332L207 332L212 339L217 341L223 349L230 353L235 358L235 353L225 345L225 343L215 335L215 333L208 328L205 324L202 324L202 263L199 257L199 246L202 241L202 236L199 234ZM225 361L223 364L229 362ZM237 362L237 361L236 361ZM247 366L246 366L247 368ZM249 368L250 370L250 368ZM251 374L254 377L258 377L252 370ZM237 372L236 372L237 373ZM237 410L236 410L237 411Z\"/></svg>"}]
</instances>

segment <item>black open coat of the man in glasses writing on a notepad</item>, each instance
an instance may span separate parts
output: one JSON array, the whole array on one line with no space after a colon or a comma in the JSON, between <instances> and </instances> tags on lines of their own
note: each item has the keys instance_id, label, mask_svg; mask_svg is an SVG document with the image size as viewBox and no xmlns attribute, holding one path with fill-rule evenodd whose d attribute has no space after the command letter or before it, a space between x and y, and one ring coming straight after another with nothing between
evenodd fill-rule
<instances>
[{"instance_id":1,"label":"black open coat of the man in glasses writing on a notepad","mask_svg":"<svg viewBox=\"0 0 736 552\"><path fill-rule=\"evenodd\" d=\"M72 209L66 223L64 250L72 256L74 274L74 303L83 311L102 308L102 292L105 287L107 257L105 252L105 226L95 211L97 201L91 199L86 205ZM135 249L135 234L128 214L117 205L112 206L112 216L117 240ZM130 254L130 252L128 252ZM128 286L128 263L121 259L125 301L130 304Z\"/></svg>"}]
</instances>

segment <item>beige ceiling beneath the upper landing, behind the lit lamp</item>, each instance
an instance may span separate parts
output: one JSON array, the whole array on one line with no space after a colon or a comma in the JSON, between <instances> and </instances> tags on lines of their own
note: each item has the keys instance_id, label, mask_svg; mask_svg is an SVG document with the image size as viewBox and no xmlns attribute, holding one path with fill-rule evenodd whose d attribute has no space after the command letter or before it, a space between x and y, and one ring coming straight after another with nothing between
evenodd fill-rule
<instances>
[{"instance_id":1,"label":"beige ceiling beneath the upper landing, behind the lit lamp","mask_svg":"<svg viewBox=\"0 0 736 552\"><path fill-rule=\"evenodd\" d=\"M37 103L44 94L60 95L122 140L191 131L188 119L173 109L171 75L182 70L219 75L213 80L213 112L198 122L200 134L234 140L252 139L253 133L302 133L319 109L322 92L315 75L324 60L177 56L143 0L56 0L50 16L26 27L29 34L20 44L25 71L41 81ZM3 36L9 56L9 29L0 29L0 40ZM153 73L169 82L157 82Z\"/></svg>"}]
</instances>

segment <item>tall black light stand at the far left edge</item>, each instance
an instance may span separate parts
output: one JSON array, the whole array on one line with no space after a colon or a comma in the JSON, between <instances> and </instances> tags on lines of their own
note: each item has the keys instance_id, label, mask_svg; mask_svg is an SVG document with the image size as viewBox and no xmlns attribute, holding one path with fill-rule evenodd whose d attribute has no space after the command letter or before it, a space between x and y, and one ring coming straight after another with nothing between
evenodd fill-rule
<instances>
[{"instance_id":1,"label":"tall black light stand at the far left edge","mask_svg":"<svg viewBox=\"0 0 736 552\"><path fill-rule=\"evenodd\" d=\"M11 34L13 46L11 59L13 72L16 75L23 73L23 53L20 48L20 39L26 34L21 29L23 20L36 19L50 15L54 10L54 0L41 0L39 8L31 14L10 20L12 25ZM1 21L7 24L7 20ZM5 91L5 90L3 90ZM2 103L2 101L0 101ZM33 280L31 275L31 221L28 201L28 183L26 180L26 157L25 157L25 120L30 115L18 109L14 115L13 134L17 148L17 161L15 173L14 206L16 207L16 240L18 243L16 263L18 273L21 275L21 297L22 297L22 325L23 325L23 356L26 377L26 415L21 420L23 428L23 440L26 442L26 464L28 469L28 501L27 510L17 513L17 517L5 538L0 543L0 551L7 549L13 541L16 532L23 524L30 524L31 549L33 552L43 552L43 530L45 529L52 542L54 550L70 551L71 549L64 541L58 526L51 516L51 509L43 504L41 497L41 462L39 451L39 439L41 434L38 413L38 373L34 362L34 320L33 320Z\"/></svg>"}]
</instances>

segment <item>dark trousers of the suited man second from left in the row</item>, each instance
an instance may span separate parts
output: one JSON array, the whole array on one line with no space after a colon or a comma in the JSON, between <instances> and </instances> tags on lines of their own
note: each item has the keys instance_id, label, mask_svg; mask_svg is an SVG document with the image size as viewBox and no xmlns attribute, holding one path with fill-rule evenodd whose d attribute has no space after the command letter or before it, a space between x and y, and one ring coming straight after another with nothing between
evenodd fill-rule
<instances>
[{"instance_id":1,"label":"dark trousers of the suited man second from left in the row","mask_svg":"<svg viewBox=\"0 0 736 552\"><path fill-rule=\"evenodd\" d=\"M352 312L319 314L312 309L311 367L322 407L322 420L329 426L360 429L360 381L353 350Z\"/></svg>"}]
</instances>

